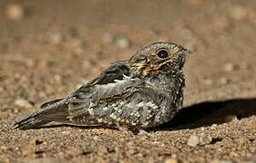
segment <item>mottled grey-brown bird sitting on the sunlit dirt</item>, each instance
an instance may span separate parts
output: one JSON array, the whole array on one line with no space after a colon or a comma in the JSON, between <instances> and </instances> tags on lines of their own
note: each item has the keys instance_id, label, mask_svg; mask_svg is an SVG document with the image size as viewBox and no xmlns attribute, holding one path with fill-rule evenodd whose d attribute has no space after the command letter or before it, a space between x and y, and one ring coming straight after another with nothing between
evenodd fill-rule
<instances>
[{"instance_id":1,"label":"mottled grey-brown bird sitting on the sunlit dirt","mask_svg":"<svg viewBox=\"0 0 256 163\"><path fill-rule=\"evenodd\" d=\"M42 104L14 128L37 129L52 121L134 133L157 127L182 109L182 68L191 53L177 43L151 43L66 98Z\"/></svg>"}]
</instances>

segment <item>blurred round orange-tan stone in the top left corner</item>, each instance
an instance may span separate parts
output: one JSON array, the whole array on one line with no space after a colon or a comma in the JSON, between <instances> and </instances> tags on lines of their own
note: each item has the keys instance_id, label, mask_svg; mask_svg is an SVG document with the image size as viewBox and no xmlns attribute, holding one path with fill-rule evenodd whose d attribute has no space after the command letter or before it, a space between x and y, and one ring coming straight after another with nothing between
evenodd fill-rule
<instances>
[{"instance_id":1,"label":"blurred round orange-tan stone in the top left corner","mask_svg":"<svg viewBox=\"0 0 256 163\"><path fill-rule=\"evenodd\" d=\"M17 4L8 5L5 14L8 19L17 21L24 17L24 8Z\"/></svg>"}]
</instances>

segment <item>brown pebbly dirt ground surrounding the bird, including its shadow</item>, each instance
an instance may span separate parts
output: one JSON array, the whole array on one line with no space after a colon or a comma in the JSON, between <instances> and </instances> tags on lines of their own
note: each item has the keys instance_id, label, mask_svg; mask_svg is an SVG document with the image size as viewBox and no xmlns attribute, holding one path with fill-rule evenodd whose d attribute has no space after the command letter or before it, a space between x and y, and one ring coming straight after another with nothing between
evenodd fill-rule
<instances>
[{"instance_id":1,"label":"brown pebbly dirt ground surrounding the bird, including its shadow","mask_svg":"<svg viewBox=\"0 0 256 163\"><path fill-rule=\"evenodd\" d=\"M0 162L256 162L255 29L255 0L1 0ZM184 109L148 137L12 129L157 41L194 54Z\"/></svg>"}]
</instances>

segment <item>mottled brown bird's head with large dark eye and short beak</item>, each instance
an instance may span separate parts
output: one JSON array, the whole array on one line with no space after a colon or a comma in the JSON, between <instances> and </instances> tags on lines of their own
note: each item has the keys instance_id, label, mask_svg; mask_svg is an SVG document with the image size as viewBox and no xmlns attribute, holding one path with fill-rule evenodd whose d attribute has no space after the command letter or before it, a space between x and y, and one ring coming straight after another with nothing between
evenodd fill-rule
<instances>
[{"instance_id":1,"label":"mottled brown bird's head with large dark eye and short beak","mask_svg":"<svg viewBox=\"0 0 256 163\"><path fill-rule=\"evenodd\" d=\"M142 76L179 72L186 54L191 51L176 43L152 43L135 53L128 66L132 74Z\"/></svg>"}]
</instances>

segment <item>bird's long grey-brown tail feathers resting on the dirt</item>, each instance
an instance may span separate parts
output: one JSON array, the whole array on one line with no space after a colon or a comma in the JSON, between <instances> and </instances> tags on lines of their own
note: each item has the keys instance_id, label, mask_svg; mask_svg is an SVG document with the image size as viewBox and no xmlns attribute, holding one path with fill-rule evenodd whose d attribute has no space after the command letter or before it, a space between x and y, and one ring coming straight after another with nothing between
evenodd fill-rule
<instances>
[{"instance_id":1,"label":"bird's long grey-brown tail feathers resting on the dirt","mask_svg":"<svg viewBox=\"0 0 256 163\"><path fill-rule=\"evenodd\" d=\"M38 110L15 123L15 129L36 129L51 121L68 122L67 105L63 99L46 102Z\"/></svg>"}]
</instances>

